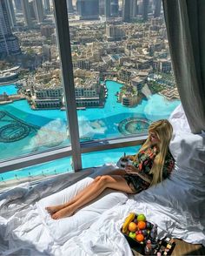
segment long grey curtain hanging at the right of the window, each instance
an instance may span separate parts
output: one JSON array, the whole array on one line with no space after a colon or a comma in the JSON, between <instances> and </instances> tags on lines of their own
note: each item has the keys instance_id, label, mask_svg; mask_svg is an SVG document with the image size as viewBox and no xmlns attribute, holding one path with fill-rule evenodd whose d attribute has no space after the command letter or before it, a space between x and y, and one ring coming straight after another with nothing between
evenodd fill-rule
<instances>
[{"instance_id":1,"label":"long grey curtain hanging at the right of the window","mask_svg":"<svg viewBox=\"0 0 205 256\"><path fill-rule=\"evenodd\" d=\"M205 130L205 0L163 0L169 50L193 133Z\"/></svg>"}]
</instances>

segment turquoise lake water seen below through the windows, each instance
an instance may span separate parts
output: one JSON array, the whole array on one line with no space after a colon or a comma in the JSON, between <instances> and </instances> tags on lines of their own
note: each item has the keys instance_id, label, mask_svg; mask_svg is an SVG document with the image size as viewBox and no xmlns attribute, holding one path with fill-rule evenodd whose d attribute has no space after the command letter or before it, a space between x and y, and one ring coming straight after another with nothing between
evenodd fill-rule
<instances>
[{"instance_id":1,"label":"turquoise lake water seen below through the windows","mask_svg":"<svg viewBox=\"0 0 205 256\"><path fill-rule=\"evenodd\" d=\"M166 98L155 94L150 96L148 100L142 100L142 103L136 107L125 107L116 102L115 95L116 91L120 91L122 84L107 81L106 85L108 88L108 98L103 108L89 108L77 111L80 137L83 140L122 136L118 131L118 124L122 120L126 118L146 118L154 121L160 118L169 118L170 113L180 104L179 100L168 101ZM7 85L4 88L8 88L10 91L10 86ZM26 100L1 105L1 110L9 112L27 124L37 125L41 128L37 133L30 132L29 136L16 142L0 143L2 159L48 150L50 144L52 145L52 140L56 137L62 140L60 145L69 145L69 138L66 137L67 121L65 111L33 111ZM6 122L8 122L8 118L2 119L0 127L7 125ZM54 136L52 136L52 132L55 132ZM121 152L121 150L118 149L117 152ZM91 153L89 153L89 156L91 158ZM84 155L83 168L87 167L89 163L91 165L101 165L102 161L107 157L107 152L95 152L95 156L98 157L95 158L94 162L90 161L89 156ZM52 165L55 166L55 162ZM69 166L67 162L65 165ZM32 174L39 174L39 172L42 172L41 170L42 165L35 167ZM27 176L26 173L25 176Z\"/></svg>"}]
</instances>

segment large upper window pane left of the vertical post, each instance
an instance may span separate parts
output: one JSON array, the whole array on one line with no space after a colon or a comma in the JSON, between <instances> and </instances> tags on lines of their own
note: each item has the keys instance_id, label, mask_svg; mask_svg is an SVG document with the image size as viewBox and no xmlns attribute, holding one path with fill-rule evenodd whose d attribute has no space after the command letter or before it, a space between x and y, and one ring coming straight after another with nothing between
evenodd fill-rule
<instances>
[{"instance_id":1,"label":"large upper window pane left of the vertical post","mask_svg":"<svg viewBox=\"0 0 205 256\"><path fill-rule=\"evenodd\" d=\"M0 1L1 159L69 145L50 0Z\"/></svg>"}]
</instances>

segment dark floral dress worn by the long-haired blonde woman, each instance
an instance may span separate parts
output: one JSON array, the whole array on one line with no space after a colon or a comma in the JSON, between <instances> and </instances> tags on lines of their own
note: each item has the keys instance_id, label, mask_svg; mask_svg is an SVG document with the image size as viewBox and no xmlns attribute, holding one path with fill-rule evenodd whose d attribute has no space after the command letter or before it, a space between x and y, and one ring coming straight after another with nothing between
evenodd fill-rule
<instances>
[{"instance_id":1,"label":"dark floral dress worn by the long-haired blonde woman","mask_svg":"<svg viewBox=\"0 0 205 256\"><path fill-rule=\"evenodd\" d=\"M136 161L133 162L136 168L139 169L139 172L143 175L148 175L151 179L153 178L153 174L149 173L152 165L155 160L155 156L157 154L157 149L155 146L149 147L141 152L138 153L138 158ZM175 159L171 155L168 150L166 158L164 160L164 166L162 170L162 179L169 178L170 173L172 172L175 166ZM128 185L133 190L133 192L142 192L143 190L149 188L149 182L143 180L135 173L127 173L123 176L126 179Z\"/></svg>"}]
</instances>

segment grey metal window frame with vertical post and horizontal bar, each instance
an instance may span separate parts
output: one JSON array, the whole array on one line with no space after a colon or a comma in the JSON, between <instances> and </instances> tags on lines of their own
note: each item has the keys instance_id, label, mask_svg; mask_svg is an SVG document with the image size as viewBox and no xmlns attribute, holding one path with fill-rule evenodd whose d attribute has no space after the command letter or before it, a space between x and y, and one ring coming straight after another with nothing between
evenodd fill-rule
<instances>
[{"instance_id":1,"label":"grey metal window frame with vertical post and horizontal bar","mask_svg":"<svg viewBox=\"0 0 205 256\"><path fill-rule=\"evenodd\" d=\"M123 138L106 138L96 141L80 142L76 110L75 84L69 38L69 18L67 4L66 0L53 0L53 3L58 50L61 58L63 91L70 134L70 145L58 149L52 149L47 152L36 152L36 154L31 154L29 156L22 156L0 161L0 173L10 172L32 165L43 164L52 160L70 156L72 157L74 172L78 172L83 169L83 153L104 151L133 145L142 145L148 136L147 133L143 133L141 135L135 134L133 136Z\"/></svg>"}]
</instances>

